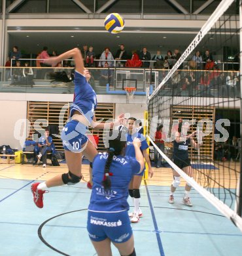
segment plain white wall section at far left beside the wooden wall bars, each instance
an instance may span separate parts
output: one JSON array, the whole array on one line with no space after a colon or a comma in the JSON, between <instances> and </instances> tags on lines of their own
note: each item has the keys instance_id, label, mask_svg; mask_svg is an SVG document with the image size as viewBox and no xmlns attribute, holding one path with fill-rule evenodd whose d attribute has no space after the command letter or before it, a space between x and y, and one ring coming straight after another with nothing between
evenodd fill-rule
<instances>
[{"instance_id":1,"label":"plain white wall section at far left beside the wooden wall bars","mask_svg":"<svg viewBox=\"0 0 242 256\"><path fill-rule=\"evenodd\" d=\"M27 101L0 100L0 145L10 145L11 148L22 148L20 140L14 138L14 126L20 119L27 117ZM15 136L25 136L24 121L21 127L16 128ZM26 127L26 126L25 126ZM24 139L23 139L24 140Z\"/></svg>"}]
</instances>

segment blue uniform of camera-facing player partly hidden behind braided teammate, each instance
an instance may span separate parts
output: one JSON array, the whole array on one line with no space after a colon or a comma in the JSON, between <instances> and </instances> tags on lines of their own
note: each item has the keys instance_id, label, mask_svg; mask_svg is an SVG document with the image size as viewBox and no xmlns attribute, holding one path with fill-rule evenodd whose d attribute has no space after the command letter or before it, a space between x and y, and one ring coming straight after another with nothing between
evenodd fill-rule
<instances>
[{"instance_id":1,"label":"blue uniform of camera-facing player partly hidden behind braided teammate","mask_svg":"<svg viewBox=\"0 0 242 256\"><path fill-rule=\"evenodd\" d=\"M145 139L144 135L142 135L140 133L134 133L133 135L130 135L130 133L128 133L126 136L127 136L127 146L126 146L126 150L125 150L126 156L132 156L133 158L135 158L135 148L133 146L133 139L135 139L135 138L139 138L141 140L140 149L141 149L142 154L143 154L143 150L146 150L148 148L147 140ZM144 172L145 172L145 167L141 173L136 174L136 175L143 176Z\"/></svg>"}]
</instances>

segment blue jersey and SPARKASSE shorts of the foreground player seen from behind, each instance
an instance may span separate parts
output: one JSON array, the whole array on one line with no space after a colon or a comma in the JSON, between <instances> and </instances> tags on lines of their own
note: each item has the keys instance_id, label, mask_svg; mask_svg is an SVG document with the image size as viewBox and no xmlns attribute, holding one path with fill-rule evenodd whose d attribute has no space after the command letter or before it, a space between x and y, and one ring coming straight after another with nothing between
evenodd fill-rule
<instances>
[{"instance_id":1,"label":"blue jersey and SPARKASSE shorts of the foreground player seen from behind","mask_svg":"<svg viewBox=\"0 0 242 256\"><path fill-rule=\"evenodd\" d=\"M99 153L92 163L93 186L88 207L88 233L90 239L99 242L109 238L112 242L123 243L132 235L127 202L128 185L141 165L135 158L114 156L110 171L111 189L102 186L107 153Z\"/></svg>"}]
</instances>

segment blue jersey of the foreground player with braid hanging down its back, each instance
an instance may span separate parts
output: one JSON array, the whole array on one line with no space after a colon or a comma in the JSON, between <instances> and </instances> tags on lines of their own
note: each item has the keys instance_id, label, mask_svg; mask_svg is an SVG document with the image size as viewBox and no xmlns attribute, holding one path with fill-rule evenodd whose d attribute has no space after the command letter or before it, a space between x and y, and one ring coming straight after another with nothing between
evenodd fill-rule
<instances>
[{"instance_id":1,"label":"blue jersey of the foreground player with braid hanging down its back","mask_svg":"<svg viewBox=\"0 0 242 256\"><path fill-rule=\"evenodd\" d=\"M99 153L92 163L93 186L89 211L118 212L128 211L128 186L135 173L139 173L141 165L135 158L127 156L114 156L110 173L111 189L104 190L101 182L104 177L107 153Z\"/></svg>"}]
</instances>

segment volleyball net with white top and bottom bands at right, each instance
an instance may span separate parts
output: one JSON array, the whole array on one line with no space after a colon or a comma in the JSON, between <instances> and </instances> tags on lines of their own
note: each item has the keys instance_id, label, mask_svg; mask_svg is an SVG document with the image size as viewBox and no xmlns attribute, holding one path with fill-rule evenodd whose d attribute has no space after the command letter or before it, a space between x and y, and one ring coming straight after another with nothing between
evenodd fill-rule
<instances>
[{"instance_id":1,"label":"volleyball net with white top and bottom bands at right","mask_svg":"<svg viewBox=\"0 0 242 256\"><path fill-rule=\"evenodd\" d=\"M223 0L178 60L164 60L160 85L148 96L148 139L165 161L242 231L241 1ZM201 144L188 148L191 179L173 161L179 123ZM154 143L163 125L165 150Z\"/></svg>"}]
</instances>

